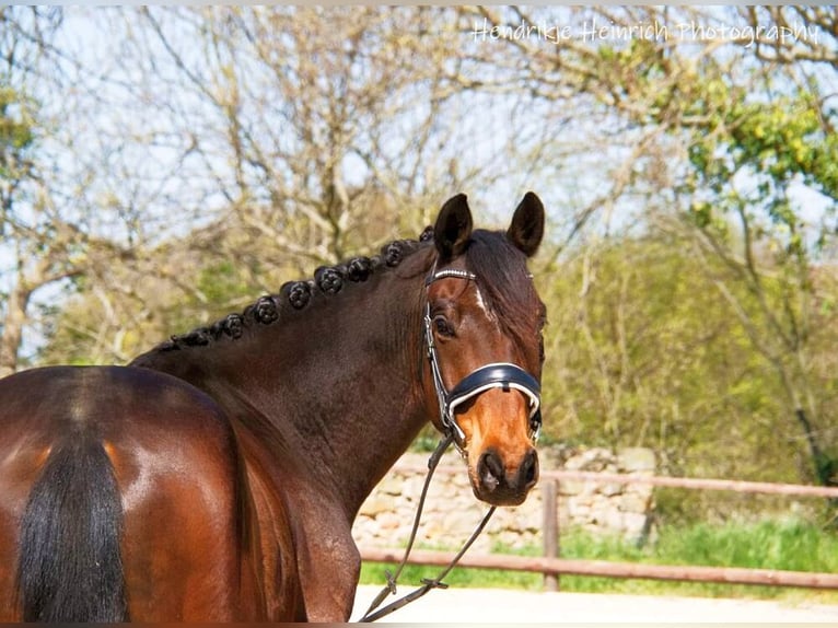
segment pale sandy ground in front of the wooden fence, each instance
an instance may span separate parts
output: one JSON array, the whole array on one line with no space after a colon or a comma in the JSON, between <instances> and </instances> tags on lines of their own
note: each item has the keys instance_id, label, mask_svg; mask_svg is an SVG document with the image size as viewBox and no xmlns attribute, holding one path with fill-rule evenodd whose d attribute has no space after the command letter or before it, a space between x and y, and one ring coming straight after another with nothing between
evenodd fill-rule
<instances>
[{"instance_id":1,"label":"pale sandy ground in front of the wooden fence","mask_svg":"<svg viewBox=\"0 0 838 628\"><path fill-rule=\"evenodd\" d=\"M379 586L360 586L352 620L363 615ZM399 596L410 592L399 588ZM384 604L395 597L388 597ZM379 620L388 623L529 623L583 624L811 624L838 627L838 605L806 603L606 595L597 593L531 593L510 590L447 589Z\"/></svg>"}]
</instances>

